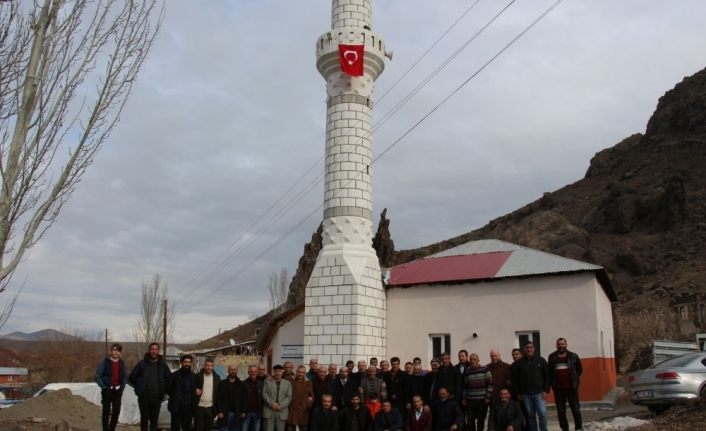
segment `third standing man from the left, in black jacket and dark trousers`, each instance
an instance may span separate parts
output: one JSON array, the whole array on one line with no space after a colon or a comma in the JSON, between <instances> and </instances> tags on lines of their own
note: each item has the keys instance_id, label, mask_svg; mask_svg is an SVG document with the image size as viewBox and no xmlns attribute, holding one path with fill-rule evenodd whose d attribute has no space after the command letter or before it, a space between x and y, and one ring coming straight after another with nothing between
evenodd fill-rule
<instances>
[{"instance_id":1,"label":"third standing man from the left, in black jacket and dark trousers","mask_svg":"<svg viewBox=\"0 0 706 431\"><path fill-rule=\"evenodd\" d=\"M172 431L191 431L191 422L196 411L196 374L191 371L191 355L181 357L181 368L169 379L167 409L172 414Z\"/></svg>"}]
</instances>

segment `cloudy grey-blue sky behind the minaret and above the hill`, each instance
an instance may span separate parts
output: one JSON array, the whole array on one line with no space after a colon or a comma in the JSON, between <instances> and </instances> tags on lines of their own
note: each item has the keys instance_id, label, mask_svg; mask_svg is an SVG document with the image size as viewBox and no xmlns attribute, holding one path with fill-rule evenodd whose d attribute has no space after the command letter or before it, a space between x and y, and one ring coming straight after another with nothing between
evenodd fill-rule
<instances>
[{"instance_id":1,"label":"cloudy grey-blue sky behind the minaret and above the hill","mask_svg":"<svg viewBox=\"0 0 706 431\"><path fill-rule=\"evenodd\" d=\"M373 30L394 53L374 119L508 3L480 0L399 80L473 3L374 0ZM515 1L380 124L374 154L553 3ZM130 341L155 274L177 342L267 311L268 274L294 274L322 217L314 44L330 8L170 0L120 124L15 274L11 292L23 289L0 332L108 329ZM564 0L374 164L374 224L387 208L396 248L419 247L581 179L596 152L644 132L658 98L706 66L705 18L702 0Z\"/></svg>"}]
</instances>

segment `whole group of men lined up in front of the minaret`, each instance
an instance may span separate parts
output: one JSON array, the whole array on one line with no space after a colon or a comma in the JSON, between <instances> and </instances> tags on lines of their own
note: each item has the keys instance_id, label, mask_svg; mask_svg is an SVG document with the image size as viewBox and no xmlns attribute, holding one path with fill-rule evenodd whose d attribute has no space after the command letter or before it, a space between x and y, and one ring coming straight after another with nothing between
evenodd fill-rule
<instances>
[{"instance_id":1,"label":"whole group of men lined up in front of the minaret","mask_svg":"<svg viewBox=\"0 0 706 431\"><path fill-rule=\"evenodd\" d=\"M211 359L199 373L192 372L190 355L170 373L153 343L127 381L137 393L144 431L157 429L165 395L174 431L190 430L192 423L196 430L208 430L214 418L222 431L483 431L486 418L493 431L547 431L545 397L550 390L561 429L569 430L568 402L580 430L581 361L567 350L565 339L559 338L556 347L547 361L527 343L523 351L513 349L512 364L495 349L487 365L466 350L458 352L455 365L443 353L427 371L419 358L404 368L397 357L379 363L371 358L369 363L358 361L357 370L353 361L339 369L336 364L319 366L313 358L308 370L285 362L275 365L272 375L263 366L251 366L248 377L240 380L231 365L221 380ZM114 355L111 349L96 375L103 390L104 430L117 424L125 368L113 364L121 361L119 351Z\"/></svg>"}]
</instances>

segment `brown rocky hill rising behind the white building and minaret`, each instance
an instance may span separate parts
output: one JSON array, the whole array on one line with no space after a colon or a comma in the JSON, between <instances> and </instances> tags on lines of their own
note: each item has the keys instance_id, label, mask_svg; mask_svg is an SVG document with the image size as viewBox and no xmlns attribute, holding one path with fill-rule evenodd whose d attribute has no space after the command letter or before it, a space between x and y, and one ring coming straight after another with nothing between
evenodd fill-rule
<instances>
[{"instance_id":1,"label":"brown rocky hill rising behind the white building and minaret","mask_svg":"<svg viewBox=\"0 0 706 431\"><path fill-rule=\"evenodd\" d=\"M597 153L583 179L480 229L412 250L394 249L383 211L373 246L390 267L489 238L604 266L619 297L623 371L641 365L638 353L653 338L706 332L706 69L659 99L644 134ZM303 300L320 249L319 228L299 260L290 306ZM692 307L682 318L679 304Z\"/></svg>"}]
</instances>

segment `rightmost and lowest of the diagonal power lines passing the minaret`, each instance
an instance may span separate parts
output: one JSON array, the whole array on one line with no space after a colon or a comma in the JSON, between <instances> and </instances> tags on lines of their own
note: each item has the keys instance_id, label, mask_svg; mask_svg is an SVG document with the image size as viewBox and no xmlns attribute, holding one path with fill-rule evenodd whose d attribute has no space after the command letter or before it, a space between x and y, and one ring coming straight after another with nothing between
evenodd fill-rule
<instances>
[{"instance_id":1,"label":"rightmost and lowest of the diagonal power lines passing the minaret","mask_svg":"<svg viewBox=\"0 0 706 431\"><path fill-rule=\"evenodd\" d=\"M385 148L380 154L378 154L377 157L373 159L373 163L377 162L380 160L385 154L387 154L390 150L392 150L395 146L397 146L404 138L406 138L414 129L419 127L424 121L426 121L434 112L436 112L441 106L443 106L446 102L448 102L454 95L456 95L463 87L465 87L470 81L472 81L478 74L480 74L483 70L485 70L491 63L493 63L500 55L502 55L507 49L509 49L512 45L515 44L522 36L524 36L529 30L531 30L535 25L537 25L544 17L546 17L552 10L554 10L563 0L557 0L555 3L553 3L549 8L547 8L542 14L540 14L534 21L532 21L527 27L525 27L520 33L518 33L510 42L508 42L502 49L500 49L495 55L493 55L488 61L486 61L480 68L478 68L474 73L472 73L466 80L464 80L460 85L458 85L451 93L449 93L446 97L444 97L437 105L435 105L429 112L427 112L420 120L415 122L409 129L407 129L399 138L394 140L390 145ZM514 2L514 0L513 0ZM359 172L362 174L362 171ZM353 179L349 179L348 184L350 184L350 181L353 181ZM314 211L311 213L307 214L303 219L301 219L299 222L297 222L294 226L292 226L287 232L285 232L284 235L280 236L274 243L272 243L270 246L268 246L265 250L263 250L260 254L258 254L255 258L250 260L248 264L242 266L238 271L236 271L232 276L230 276L226 281L221 283L220 286L218 286L215 290L211 292L211 294L215 294L219 292L221 289L223 289L226 285L228 285L230 282L232 282L236 277L238 277L241 273L243 273L247 268L249 268L254 262L259 260L261 257L263 257L265 254L267 254L270 250L272 250L274 247L279 245L284 239L286 239L289 235L291 235L294 231L296 231L304 222L306 222L310 217L312 217L316 212L320 211L321 208L323 207L323 204L319 205ZM200 305L206 298L202 298L192 304L192 307Z\"/></svg>"}]
</instances>

